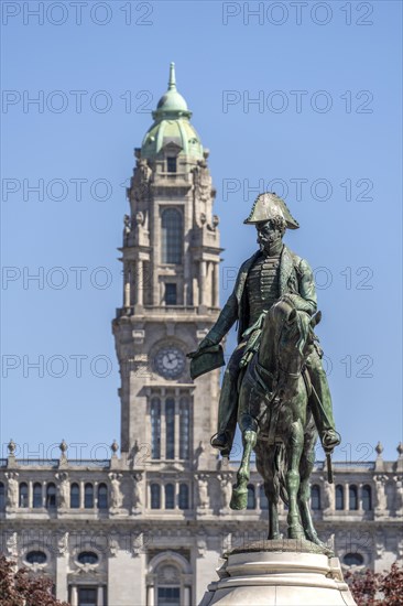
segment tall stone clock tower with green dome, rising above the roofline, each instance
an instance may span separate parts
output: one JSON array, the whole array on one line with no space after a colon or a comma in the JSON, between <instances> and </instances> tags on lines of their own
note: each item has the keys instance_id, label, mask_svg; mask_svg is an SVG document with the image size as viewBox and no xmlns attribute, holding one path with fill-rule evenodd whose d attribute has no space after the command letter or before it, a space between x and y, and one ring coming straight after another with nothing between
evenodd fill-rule
<instances>
[{"instance_id":1,"label":"tall stone clock tower with green dome, rising above the roofline","mask_svg":"<svg viewBox=\"0 0 403 606\"><path fill-rule=\"evenodd\" d=\"M217 458L209 440L219 370L193 382L186 358L219 312L221 251L208 150L190 117L172 63L168 89L134 150L120 249L123 302L113 321L122 455L160 473L166 466L190 472L196 452L206 468Z\"/></svg>"}]
</instances>

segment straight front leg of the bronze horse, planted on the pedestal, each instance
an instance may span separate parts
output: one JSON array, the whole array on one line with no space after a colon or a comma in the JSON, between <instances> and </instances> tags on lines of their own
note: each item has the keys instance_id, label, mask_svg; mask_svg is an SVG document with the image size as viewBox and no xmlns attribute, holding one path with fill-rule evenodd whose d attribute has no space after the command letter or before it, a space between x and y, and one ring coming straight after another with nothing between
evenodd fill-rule
<instances>
[{"instance_id":1,"label":"straight front leg of the bronze horse, planted on the pedestal","mask_svg":"<svg viewBox=\"0 0 403 606\"><path fill-rule=\"evenodd\" d=\"M304 447L304 430L301 421L295 421L291 425L290 442L287 446L288 470L285 475L285 481L288 493L288 539L305 538L304 529L299 523L299 510L297 496L299 490L299 461Z\"/></svg>"}]
</instances>

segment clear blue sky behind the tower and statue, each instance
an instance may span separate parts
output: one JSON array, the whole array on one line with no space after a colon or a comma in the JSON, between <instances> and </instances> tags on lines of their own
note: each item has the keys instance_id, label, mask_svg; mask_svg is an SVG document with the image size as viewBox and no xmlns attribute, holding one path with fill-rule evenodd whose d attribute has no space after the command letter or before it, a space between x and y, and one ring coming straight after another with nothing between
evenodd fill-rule
<instances>
[{"instance_id":1,"label":"clear blue sky behind the tower and statue","mask_svg":"<svg viewBox=\"0 0 403 606\"><path fill-rule=\"evenodd\" d=\"M394 459L401 2L269 2L255 17L242 2L88 2L80 18L69 2L64 11L45 2L43 18L26 12L39 2L2 4L2 452L12 436L26 456L57 456L52 444L64 437L70 456L81 443L84 455L102 457L97 445L119 441L110 323L122 300L124 187L174 61L211 151L221 302L231 268L255 249L242 220L270 184L302 226L286 244L318 282L317 332L344 437L336 458L373 458L381 440ZM43 199L29 190L39 180ZM39 272L43 288L26 282ZM44 377L28 367L40 356Z\"/></svg>"}]
</instances>

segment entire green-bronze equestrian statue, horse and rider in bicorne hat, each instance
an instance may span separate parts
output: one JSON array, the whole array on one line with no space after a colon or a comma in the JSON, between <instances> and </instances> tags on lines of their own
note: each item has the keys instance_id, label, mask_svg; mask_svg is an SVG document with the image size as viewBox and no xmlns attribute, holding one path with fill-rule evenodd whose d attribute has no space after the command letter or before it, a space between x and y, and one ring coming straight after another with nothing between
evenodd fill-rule
<instances>
[{"instance_id":1,"label":"entire green-bronze equestrian statue, horse and rider in bicorne hat","mask_svg":"<svg viewBox=\"0 0 403 606\"><path fill-rule=\"evenodd\" d=\"M238 322L238 346L224 376L218 428L211 439L211 445L229 456L238 420L243 455L231 507L247 506L254 448L270 504L269 538L279 535L280 495L288 505L288 537L299 538L305 531L307 539L320 544L307 505L315 442L318 433L329 461L340 436L323 353L313 333L320 320L313 272L307 261L283 244L286 228L299 226L282 198L274 193L259 195L244 223L255 225L260 250L241 266L216 324L190 354L194 376L206 371L196 370L203 357L208 360L207 369L217 367L219 343Z\"/></svg>"}]
</instances>

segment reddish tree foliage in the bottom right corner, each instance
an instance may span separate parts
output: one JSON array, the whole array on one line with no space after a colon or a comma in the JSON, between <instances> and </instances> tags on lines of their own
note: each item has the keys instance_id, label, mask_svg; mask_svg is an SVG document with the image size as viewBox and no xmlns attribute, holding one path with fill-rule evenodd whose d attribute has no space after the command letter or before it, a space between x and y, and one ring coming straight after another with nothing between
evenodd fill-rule
<instances>
[{"instance_id":1,"label":"reddish tree foliage in the bottom right corner","mask_svg":"<svg viewBox=\"0 0 403 606\"><path fill-rule=\"evenodd\" d=\"M345 578L358 606L401 606L403 604L403 569L396 563L389 572L370 570L347 572Z\"/></svg>"}]
</instances>

